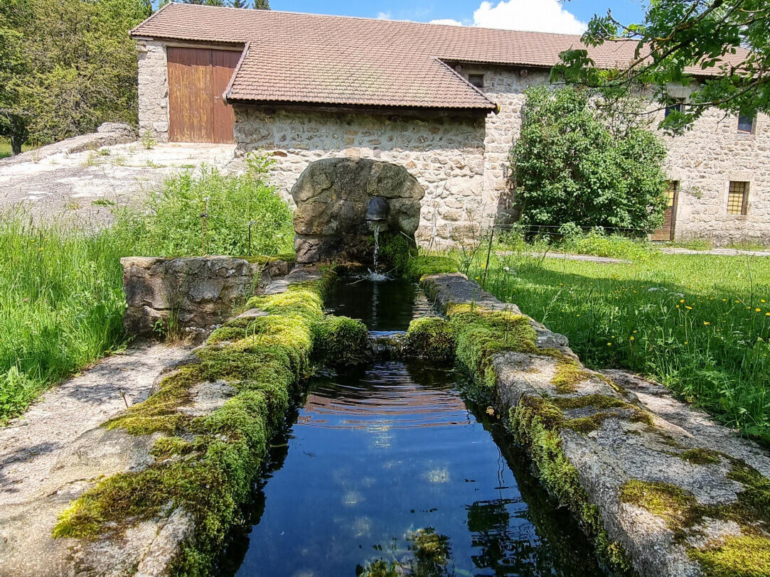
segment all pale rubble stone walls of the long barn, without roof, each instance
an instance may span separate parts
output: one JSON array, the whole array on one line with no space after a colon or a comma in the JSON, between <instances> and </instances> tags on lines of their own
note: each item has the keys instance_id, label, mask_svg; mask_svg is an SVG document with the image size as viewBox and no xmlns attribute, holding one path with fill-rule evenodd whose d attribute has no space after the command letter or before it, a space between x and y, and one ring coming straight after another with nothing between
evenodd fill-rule
<instances>
[{"instance_id":1,"label":"all pale rubble stone walls of the long barn, without roof","mask_svg":"<svg viewBox=\"0 0 770 577\"><path fill-rule=\"evenodd\" d=\"M139 50L139 132L169 138L166 45L142 40ZM277 111L236 107L235 136L242 154L273 154L273 182L284 198L310 162L348 156L403 165L425 188L417 239L445 247L487 225L511 205L507 157L521 128L524 90L548 73L526 68L467 65L484 74L484 93L500 111L483 118L407 118L392 115ZM737 119L708 112L685 135L666 137L666 168L681 192L675 235L715 242L770 243L770 127L760 115L755 133L739 135ZM747 215L727 214L731 180L749 182Z\"/></svg>"}]
</instances>

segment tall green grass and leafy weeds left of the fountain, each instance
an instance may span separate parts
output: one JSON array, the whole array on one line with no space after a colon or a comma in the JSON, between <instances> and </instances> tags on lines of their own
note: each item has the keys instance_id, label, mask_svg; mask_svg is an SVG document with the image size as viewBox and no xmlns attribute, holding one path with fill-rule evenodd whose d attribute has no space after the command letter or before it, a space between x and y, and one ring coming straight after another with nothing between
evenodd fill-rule
<instances>
[{"instance_id":1,"label":"tall green grass and leafy weeds left of the fountain","mask_svg":"<svg viewBox=\"0 0 770 577\"><path fill-rule=\"evenodd\" d=\"M21 208L0 215L0 424L126 343L119 258L200 255L203 198L208 254L290 252L290 208L263 175L257 163L242 176L172 176L139 211L122 210L99 231L41 224Z\"/></svg>"}]
</instances>

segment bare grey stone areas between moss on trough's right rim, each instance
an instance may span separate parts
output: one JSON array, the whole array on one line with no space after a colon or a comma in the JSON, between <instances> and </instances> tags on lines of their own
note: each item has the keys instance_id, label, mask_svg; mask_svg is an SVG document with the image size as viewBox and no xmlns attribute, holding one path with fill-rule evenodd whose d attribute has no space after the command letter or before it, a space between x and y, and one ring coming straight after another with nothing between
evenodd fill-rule
<instances>
[{"instance_id":1,"label":"bare grey stone areas between moss on trough's right rim","mask_svg":"<svg viewBox=\"0 0 770 577\"><path fill-rule=\"evenodd\" d=\"M427 275L421 281L430 299L446 310L451 304L470 304L490 310L520 313L516 305L498 301L460 273ZM564 335L549 331L530 319L537 333L537 345L553 347L577 360ZM689 449L718 449L723 455L751 465L770 478L770 454L753 442L738 438L725 427L688 405L676 402L662 385L623 372L610 372L611 379L598 372L584 371L585 378L573 392L560 394L551 384L557 360L549 355L503 352L495 355L495 402L500 415L510 415L522 399L574 398L606 395L634 405L651 417L648 427L629 419L629 411L618 410L604 419L598 429L581 433L561 429L561 449L577 470L588 500L598 508L608 539L619 543L638 575L654 577L698 577L706 575L688 555L688 548L718 545L741 535L735 522L703 519L689 531L685 541L660 516L648 509L624 502L624 483L662 482L676 485L695 495L701 505L723 505L736 501L743 485L728 478L728 459L699 465L681 454ZM583 365L577 365L584 370ZM638 394L637 394L638 392ZM588 408L591 409L591 408ZM587 409L564 411L565 417L595 414ZM510 425L510 421L507 422ZM565 505L569 505L566 504ZM760 534L767 532L760 528Z\"/></svg>"}]
</instances>

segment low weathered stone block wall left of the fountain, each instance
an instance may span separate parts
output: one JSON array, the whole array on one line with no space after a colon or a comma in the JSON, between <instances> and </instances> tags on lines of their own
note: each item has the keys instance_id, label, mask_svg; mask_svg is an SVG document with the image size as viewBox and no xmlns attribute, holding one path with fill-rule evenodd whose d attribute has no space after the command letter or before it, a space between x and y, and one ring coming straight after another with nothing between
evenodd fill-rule
<instances>
[{"instance_id":1,"label":"low weathered stone block wall left of the fountain","mask_svg":"<svg viewBox=\"0 0 770 577\"><path fill-rule=\"evenodd\" d=\"M129 335L194 332L223 322L236 303L286 275L293 263L228 256L121 258Z\"/></svg>"}]
</instances>

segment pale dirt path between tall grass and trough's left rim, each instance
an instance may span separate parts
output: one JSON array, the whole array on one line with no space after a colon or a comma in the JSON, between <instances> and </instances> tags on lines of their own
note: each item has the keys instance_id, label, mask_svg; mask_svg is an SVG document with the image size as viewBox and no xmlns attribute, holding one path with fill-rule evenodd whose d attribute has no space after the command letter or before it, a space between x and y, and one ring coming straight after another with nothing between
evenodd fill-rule
<instances>
[{"instance_id":1,"label":"pale dirt path between tall grass and trough's left rim","mask_svg":"<svg viewBox=\"0 0 770 577\"><path fill-rule=\"evenodd\" d=\"M113 355L51 389L25 415L0 429L0 506L39 495L68 445L125 409L126 403L146 399L163 369L187 355L185 347L159 344Z\"/></svg>"}]
</instances>

